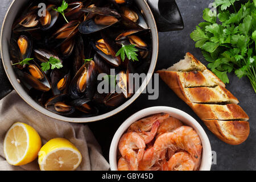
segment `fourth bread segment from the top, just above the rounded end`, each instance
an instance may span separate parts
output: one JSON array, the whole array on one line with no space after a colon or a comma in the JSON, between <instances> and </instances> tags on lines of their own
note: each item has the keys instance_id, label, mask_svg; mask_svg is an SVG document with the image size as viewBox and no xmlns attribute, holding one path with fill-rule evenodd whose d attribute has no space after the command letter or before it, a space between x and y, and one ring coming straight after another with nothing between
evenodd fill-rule
<instances>
[{"instance_id":1,"label":"fourth bread segment from the top, just above the rounded end","mask_svg":"<svg viewBox=\"0 0 256 182\"><path fill-rule=\"evenodd\" d=\"M236 104L193 104L187 103L202 120L241 120L248 121L249 117Z\"/></svg>"}]
</instances>

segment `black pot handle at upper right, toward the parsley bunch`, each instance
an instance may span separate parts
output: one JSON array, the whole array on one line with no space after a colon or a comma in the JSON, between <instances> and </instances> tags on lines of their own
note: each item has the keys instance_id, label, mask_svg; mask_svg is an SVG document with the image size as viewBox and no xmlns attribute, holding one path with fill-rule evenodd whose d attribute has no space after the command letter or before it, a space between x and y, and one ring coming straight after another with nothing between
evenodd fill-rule
<instances>
[{"instance_id":1,"label":"black pot handle at upper right, toward the parsley bunch","mask_svg":"<svg viewBox=\"0 0 256 182\"><path fill-rule=\"evenodd\" d=\"M175 0L147 0L159 32L183 30L184 23Z\"/></svg>"}]
</instances>

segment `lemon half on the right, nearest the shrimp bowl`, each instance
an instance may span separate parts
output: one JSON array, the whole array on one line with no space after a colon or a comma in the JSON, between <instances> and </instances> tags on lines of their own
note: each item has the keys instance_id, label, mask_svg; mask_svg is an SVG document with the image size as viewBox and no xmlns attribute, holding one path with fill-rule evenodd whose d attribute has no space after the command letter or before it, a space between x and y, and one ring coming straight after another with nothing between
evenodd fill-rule
<instances>
[{"instance_id":1,"label":"lemon half on the right, nearest the shrimp bowl","mask_svg":"<svg viewBox=\"0 0 256 182\"><path fill-rule=\"evenodd\" d=\"M42 171L73 171L79 167L82 160L80 151L64 138L49 140L38 155Z\"/></svg>"}]
</instances>

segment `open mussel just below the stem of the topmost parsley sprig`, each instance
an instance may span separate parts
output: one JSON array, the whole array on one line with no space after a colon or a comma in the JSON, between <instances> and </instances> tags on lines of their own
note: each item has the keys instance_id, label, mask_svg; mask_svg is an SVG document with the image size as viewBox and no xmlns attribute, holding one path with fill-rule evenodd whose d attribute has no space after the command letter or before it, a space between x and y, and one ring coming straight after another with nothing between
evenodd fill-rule
<instances>
[{"instance_id":1,"label":"open mussel just below the stem of the topmost parsley sprig","mask_svg":"<svg viewBox=\"0 0 256 182\"><path fill-rule=\"evenodd\" d=\"M65 41L73 38L78 32L79 20L73 20L63 27L59 28L53 35L47 40L47 44L50 47L59 47Z\"/></svg>"}]
</instances>

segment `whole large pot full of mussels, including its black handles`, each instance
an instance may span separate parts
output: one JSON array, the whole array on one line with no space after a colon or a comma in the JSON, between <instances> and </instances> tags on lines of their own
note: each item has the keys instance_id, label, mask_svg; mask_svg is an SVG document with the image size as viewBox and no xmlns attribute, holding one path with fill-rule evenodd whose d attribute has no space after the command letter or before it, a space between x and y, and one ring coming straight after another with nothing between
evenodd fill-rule
<instances>
[{"instance_id":1,"label":"whole large pot full of mussels, including its black handles","mask_svg":"<svg viewBox=\"0 0 256 182\"><path fill-rule=\"evenodd\" d=\"M0 95L15 89L34 109L61 121L108 118L150 81L158 29L182 28L172 0L14 0L1 32L2 69L10 82L2 84L10 86ZM129 75L142 73L136 89Z\"/></svg>"}]
</instances>

